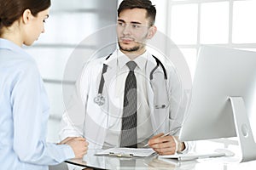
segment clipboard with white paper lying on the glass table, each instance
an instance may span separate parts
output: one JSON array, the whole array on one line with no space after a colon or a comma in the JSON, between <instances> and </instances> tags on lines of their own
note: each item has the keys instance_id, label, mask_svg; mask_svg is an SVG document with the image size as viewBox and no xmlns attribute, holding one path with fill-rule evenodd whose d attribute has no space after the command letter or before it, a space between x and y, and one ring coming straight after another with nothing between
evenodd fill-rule
<instances>
[{"instance_id":1,"label":"clipboard with white paper lying on the glass table","mask_svg":"<svg viewBox=\"0 0 256 170\"><path fill-rule=\"evenodd\" d=\"M96 156L147 157L155 153L151 148L110 148L96 153Z\"/></svg>"}]
</instances>

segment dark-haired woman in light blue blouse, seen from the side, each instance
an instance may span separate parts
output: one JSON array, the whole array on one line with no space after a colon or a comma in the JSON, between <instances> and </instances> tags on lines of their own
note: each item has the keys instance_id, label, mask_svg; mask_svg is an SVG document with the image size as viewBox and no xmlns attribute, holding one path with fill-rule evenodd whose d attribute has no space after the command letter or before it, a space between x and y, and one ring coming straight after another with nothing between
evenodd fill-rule
<instances>
[{"instance_id":1,"label":"dark-haired woman in light blue blouse, seen from the side","mask_svg":"<svg viewBox=\"0 0 256 170\"><path fill-rule=\"evenodd\" d=\"M88 143L46 143L49 101L34 59L21 48L44 32L50 0L0 0L0 166L48 169L81 158Z\"/></svg>"}]
</instances>

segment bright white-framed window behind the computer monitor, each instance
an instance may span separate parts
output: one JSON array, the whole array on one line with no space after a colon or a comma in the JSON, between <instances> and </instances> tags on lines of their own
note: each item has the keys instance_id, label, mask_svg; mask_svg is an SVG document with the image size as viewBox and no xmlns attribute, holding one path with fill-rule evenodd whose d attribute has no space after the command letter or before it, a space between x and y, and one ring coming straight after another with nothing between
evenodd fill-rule
<instances>
[{"instance_id":1,"label":"bright white-framed window behind the computer monitor","mask_svg":"<svg viewBox=\"0 0 256 170\"><path fill-rule=\"evenodd\" d=\"M255 0L169 0L167 34L183 52L191 75L201 44L256 50Z\"/></svg>"}]
</instances>

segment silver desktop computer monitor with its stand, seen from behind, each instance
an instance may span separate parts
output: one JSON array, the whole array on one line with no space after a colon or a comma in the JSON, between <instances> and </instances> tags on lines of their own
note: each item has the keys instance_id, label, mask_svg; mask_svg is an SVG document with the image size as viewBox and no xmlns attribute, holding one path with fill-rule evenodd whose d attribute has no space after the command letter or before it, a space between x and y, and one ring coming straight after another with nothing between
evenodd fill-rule
<instances>
[{"instance_id":1,"label":"silver desktop computer monitor with its stand, seen from behind","mask_svg":"<svg viewBox=\"0 0 256 170\"><path fill-rule=\"evenodd\" d=\"M202 46L190 97L179 137L182 141L237 134L241 161L256 159L251 130L251 127L256 130L255 52Z\"/></svg>"}]
</instances>

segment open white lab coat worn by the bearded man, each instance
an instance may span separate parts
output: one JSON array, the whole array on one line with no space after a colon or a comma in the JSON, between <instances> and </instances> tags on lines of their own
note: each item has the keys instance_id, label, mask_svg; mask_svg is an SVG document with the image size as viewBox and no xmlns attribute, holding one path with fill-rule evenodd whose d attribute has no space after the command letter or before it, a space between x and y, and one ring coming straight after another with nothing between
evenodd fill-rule
<instances>
[{"instance_id":1,"label":"open white lab coat worn by the bearded man","mask_svg":"<svg viewBox=\"0 0 256 170\"><path fill-rule=\"evenodd\" d=\"M146 52L148 53L148 52ZM105 84L103 88L103 96L106 103L102 106L94 102L94 98L98 94L100 84L102 65L108 65L108 70L103 74ZM164 64L164 62L162 62ZM167 72L167 94L169 94L170 105L163 109L155 109L154 100L163 99L166 92L161 88L165 88L164 73L159 66L154 75L154 86L158 93L154 93L151 84L147 81L148 105L150 108L150 116L154 135L157 133L167 133L175 127L180 127L183 122L184 110L186 106L186 95L183 94L183 88L177 77L177 73L172 65L165 65ZM148 62L146 65L146 77L149 79L150 72L156 66L156 61L151 54L148 53ZM113 111L114 103L111 98L112 84L115 84L115 76L117 75L117 52L106 60L106 57L96 59L84 66L84 70L76 83L76 95L73 96L71 102L68 103L66 111L61 122L61 139L69 136L83 135L89 141L90 149L102 149L104 144L106 131L108 130L108 111ZM158 96L156 96L158 94ZM171 96L171 97L170 97Z\"/></svg>"}]
</instances>

